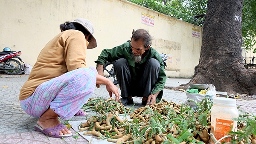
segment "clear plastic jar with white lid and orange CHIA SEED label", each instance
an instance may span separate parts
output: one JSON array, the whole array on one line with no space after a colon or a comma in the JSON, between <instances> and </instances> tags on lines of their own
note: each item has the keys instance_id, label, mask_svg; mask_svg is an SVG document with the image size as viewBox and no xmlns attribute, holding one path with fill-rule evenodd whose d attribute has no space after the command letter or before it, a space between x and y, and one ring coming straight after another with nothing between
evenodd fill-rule
<instances>
[{"instance_id":1,"label":"clear plastic jar with white lid and orange CHIA SEED label","mask_svg":"<svg viewBox=\"0 0 256 144\"><path fill-rule=\"evenodd\" d=\"M231 130L235 131L237 121L233 121L232 119L239 117L235 99L214 98L211 112L211 133L217 140L227 135L227 132ZM230 139L229 137L224 139L224 141L230 142ZM223 140L220 142L223 142ZM210 143L214 144L212 139Z\"/></svg>"}]
</instances>

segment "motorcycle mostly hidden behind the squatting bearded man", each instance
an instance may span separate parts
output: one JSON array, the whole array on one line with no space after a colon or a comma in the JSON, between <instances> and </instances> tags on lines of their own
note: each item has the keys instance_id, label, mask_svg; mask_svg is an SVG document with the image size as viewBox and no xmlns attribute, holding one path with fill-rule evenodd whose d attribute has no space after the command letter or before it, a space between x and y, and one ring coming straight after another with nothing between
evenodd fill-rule
<instances>
[{"instance_id":1,"label":"motorcycle mostly hidden behind the squatting bearded man","mask_svg":"<svg viewBox=\"0 0 256 144\"><path fill-rule=\"evenodd\" d=\"M168 55L166 55L165 53L161 53L160 56L161 56L161 58L163 60L164 69L167 70L166 69L167 65L166 65L165 61L168 59ZM104 75L107 75L106 78L111 79L111 81L113 82L114 85L117 85L118 82L116 80L116 74L114 72L114 63L115 63L115 61L114 62L107 62L104 65L103 73L104 73Z\"/></svg>"}]
</instances>

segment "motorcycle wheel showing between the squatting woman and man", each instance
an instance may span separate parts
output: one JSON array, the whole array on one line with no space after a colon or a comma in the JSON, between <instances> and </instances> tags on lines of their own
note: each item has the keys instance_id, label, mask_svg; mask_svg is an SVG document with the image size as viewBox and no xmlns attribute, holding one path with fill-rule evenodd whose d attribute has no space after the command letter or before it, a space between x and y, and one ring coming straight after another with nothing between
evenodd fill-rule
<instances>
[{"instance_id":1,"label":"motorcycle wheel showing between the squatting woman and man","mask_svg":"<svg viewBox=\"0 0 256 144\"><path fill-rule=\"evenodd\" d=\"M116 75L114 72L114 62L113 63L107 62L104 66L103 73L104 75L107 75L106 78L110 79L114 85L118 84L116 80Z\"/></svg>"}]
</instances>

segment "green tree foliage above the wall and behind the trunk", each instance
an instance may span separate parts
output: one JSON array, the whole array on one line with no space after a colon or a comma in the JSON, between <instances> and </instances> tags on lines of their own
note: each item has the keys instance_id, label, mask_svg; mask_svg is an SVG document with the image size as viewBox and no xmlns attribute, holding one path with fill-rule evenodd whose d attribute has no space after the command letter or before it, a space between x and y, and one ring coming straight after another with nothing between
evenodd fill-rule
<instances>
[{"instance_id":1,"label":"green tree foliage above the wall and behind the trunk","mask_svg":"<svg viewBox=\"0 0 256 144\"><path fill-rule=\"evenodd\" d=\"M167 14L171 17L188 23L203 26L204 17L196 19L195 16L205 14L208 0L128 0L140 6ZM232 2L232 0L230 0ZM256 53L256 0L244 0L242 13L242 47Z\"/></svg>"}]
</instances>

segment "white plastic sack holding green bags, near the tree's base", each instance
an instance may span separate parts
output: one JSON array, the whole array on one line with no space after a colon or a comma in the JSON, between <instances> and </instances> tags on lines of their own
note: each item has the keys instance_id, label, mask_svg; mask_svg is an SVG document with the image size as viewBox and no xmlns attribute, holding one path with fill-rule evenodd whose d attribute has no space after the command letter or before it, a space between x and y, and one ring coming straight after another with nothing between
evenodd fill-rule
<instances>
[{"instance_id":1,"label":"white plastic sack holding green bags, near the tree's base","mask_svg":"<svg viewBox=\"0 0 256 144\"><path fill-rule=\"evenodd\" d=\"M190 107L195 107L194 101L201 102L204 98L209 98L209 100L211 101L213 98L216 97L216 89L215 89L215 86L212 85L212 84L209 84L208 89L209 90L206 92L205 95L199 94L199 93L189 93L189 92L186 92L186 96L188 98L186 103ZM187 90L189 90L189 88Z\"/></svg>"}]
</instances>

